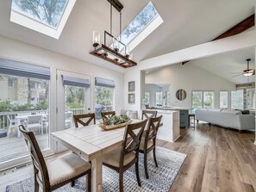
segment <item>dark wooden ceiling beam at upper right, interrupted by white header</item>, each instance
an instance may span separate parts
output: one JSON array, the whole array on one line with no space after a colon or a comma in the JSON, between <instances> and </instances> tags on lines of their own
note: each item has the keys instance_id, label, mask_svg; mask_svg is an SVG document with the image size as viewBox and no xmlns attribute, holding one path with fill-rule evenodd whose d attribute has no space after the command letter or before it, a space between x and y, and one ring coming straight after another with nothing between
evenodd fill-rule
<instances>
[{"instance_id":1,"label":"dark wooden ceiling beam at upper right, interrupted by white header","mask_svg":"<svg viewBox=\"0 0 256 192\"><path fill-rule=\"evenodd\" d=\"M240 34L240 33L246 31L249 28L253 28L253 26L255 25L254 20L255 20L255 15L254 14L250 15L249 17L247 17L247 19L238 23L233 28L228 29L228 31L226 31L223 34L217 36L214 40L221 40L223 38L230 37L230 36L233 36L235 34ZM210 41L214 41L214 40L210 40ZM188 62L190 62L190 60L182 62L182 65L184 65Z\"/></svg>"}]
</instances>

